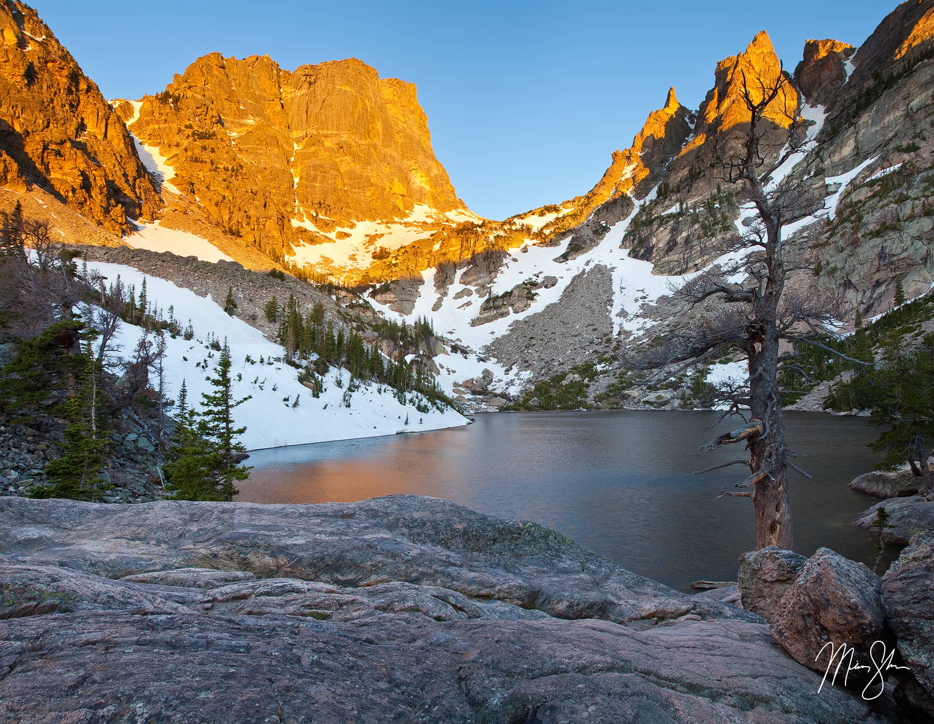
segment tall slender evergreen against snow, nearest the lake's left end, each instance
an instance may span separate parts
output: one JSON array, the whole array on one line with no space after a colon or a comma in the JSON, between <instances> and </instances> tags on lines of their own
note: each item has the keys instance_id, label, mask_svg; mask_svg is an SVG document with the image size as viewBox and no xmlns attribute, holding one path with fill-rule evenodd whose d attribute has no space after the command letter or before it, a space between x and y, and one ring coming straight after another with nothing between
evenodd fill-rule
<instances>
[{"instance_id":1,"label":"tall slender evergreen against snow, nearest the lake's left end","mask_svg":"<svg viewBox=\"0 0 934 724\"><path fill-rule=\"evenodd\" d=\"M201 395L202 412L198 421L198 433L210 440L214 449L215 468L212 476L216 481L219 499L225 501L233 500L237 493L234 483L246 480L250 470L238 465L235 460L236 453L247 449L237 440L237 436L245 433L247 428L233 427L233 409L247 402L250 396L234 399L230 369L231 350L225 339L214 376L208 377L213 390Z\"/></svg>"}]
</instances>

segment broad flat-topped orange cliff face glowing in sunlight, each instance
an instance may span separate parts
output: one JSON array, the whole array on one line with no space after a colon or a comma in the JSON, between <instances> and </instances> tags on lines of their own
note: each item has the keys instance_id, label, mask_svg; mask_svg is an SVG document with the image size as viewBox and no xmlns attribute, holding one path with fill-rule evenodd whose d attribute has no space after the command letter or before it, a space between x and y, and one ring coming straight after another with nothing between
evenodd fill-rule
<instances>
[{"instance_id":1,"label":"broad flat-topped orange cliff face glowing in sunlight","mask_svg":"<svg viewBox=\"0 0 934 724\"><path fill-rule=\"evenodd\" d=\"M361 221L450 223L443 215L463 206L415 86L355 59L290 72L211 53L118 109L171 179L170 207L196 199L206 222L274 258L340 247ZM375 246L382 234L369 235Z\"/></svg>"}]
</instances>

